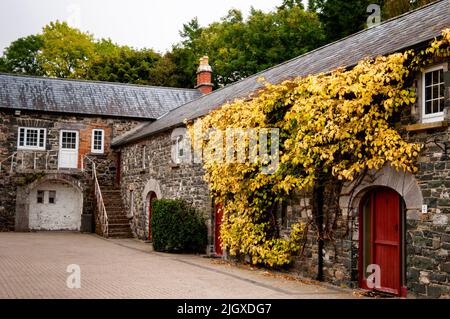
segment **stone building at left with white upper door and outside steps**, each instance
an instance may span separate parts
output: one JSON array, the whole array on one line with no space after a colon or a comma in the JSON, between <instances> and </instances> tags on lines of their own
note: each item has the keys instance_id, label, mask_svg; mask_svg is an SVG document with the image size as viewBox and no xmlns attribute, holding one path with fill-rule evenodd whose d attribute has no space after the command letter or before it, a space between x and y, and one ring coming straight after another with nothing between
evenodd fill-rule
<instances>
[{"instance_id":1,"label":"stone building at left with white upper door and outside steps","mask_svg":"<svg viewBox=\"0 0 450 319\"><path fill-rule=\"evenodd\" d=\"M199 96L0 74L0 230L128 236L111 140Z\"/></svg>"}]
</instances>

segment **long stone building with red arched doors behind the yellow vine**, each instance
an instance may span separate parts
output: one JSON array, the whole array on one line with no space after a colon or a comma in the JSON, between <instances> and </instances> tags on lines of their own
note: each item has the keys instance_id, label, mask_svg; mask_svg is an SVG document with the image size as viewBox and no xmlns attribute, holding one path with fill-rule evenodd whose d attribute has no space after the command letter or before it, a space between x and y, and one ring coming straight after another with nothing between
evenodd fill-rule
<instances>
[{"instance_id":1,"label":"long stone building with red arched doors behind the yellow vine","mask_svg":"<svg viewBox=\"0 0 450 319\"><path fill-rule=\"evenodd\" d=\"M201 96L114 139L112 145L121 154L122 197L134 234L151 239L154 198L184 198L204 212L210 229L208 253L220 255L221 212L208 195L202 166L179 163L178 155L172 156L180 152L185 123L236 98L251 98L262 87L259 77L280 83L352 67L369 56L425 47L450 26L449 12L448 0L436 1ZM210 82L210 73L203 60L199 79ZM336 203L342 213L336 231L340 236L327 242L323 252L324 275L329 282L368 288L366 269L376 264L388 269L382 272L381 291L399 296L407 292L424 297L450 296L449 60L435 61L418 73L416 89L417 104L404 115L398 129L408 140L425 144L420 170L412 175L387 166L371 172L358 185L344 187ZM298 220L307 221L310 210L308 194L293 198L280 212L283 232L289 233L290 225ZM314 240L308 241L295 271L314 277L317 255Z\"/></svg>"}]
</instances>

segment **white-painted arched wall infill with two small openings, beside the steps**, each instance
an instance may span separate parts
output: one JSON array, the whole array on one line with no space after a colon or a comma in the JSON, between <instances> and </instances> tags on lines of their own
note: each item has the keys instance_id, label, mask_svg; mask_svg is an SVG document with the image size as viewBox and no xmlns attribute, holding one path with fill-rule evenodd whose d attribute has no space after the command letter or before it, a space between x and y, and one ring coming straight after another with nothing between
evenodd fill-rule
<instances>
[{"instance_id":1,"label":"white-painted arched wall infill with two small openings, beside the steps","mask_svg":"<svg viewBox=\"0 0 450 319\"><path fill-rule=\"evenodd\" d=\"M44 204L37 203L37 192L45 191ZM49 204L48 191L56 191L56 203ZM72 186L48 181L30 192L30 230L70 230L79 231L83 210L83 195Z\"/></svg>"}]
</instances>

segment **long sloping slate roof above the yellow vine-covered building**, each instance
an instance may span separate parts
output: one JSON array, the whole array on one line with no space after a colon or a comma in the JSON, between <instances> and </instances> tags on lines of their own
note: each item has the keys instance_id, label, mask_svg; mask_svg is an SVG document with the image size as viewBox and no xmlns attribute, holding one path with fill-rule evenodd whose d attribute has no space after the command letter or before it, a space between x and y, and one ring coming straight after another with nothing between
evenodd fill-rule
<instances>
[{"instance_id":1,"label":"long sloping slate roof above the yellow vine-covered building","mask_svg":"<svg viewBox=\"0 0 450 319\"><path fill-rule=\"evenodd\" d=\"M185 120L204 116L227 102L247 97L262 87L257 82L259 77L280 83L292 77L350 67L366 57L386 55L430 41L448 27L450 1L434 2L200 97L172 110L156 122L140 126L133 134L118 137L113 145L131 143L179 126Z\"/></svg>"}]
</instances>

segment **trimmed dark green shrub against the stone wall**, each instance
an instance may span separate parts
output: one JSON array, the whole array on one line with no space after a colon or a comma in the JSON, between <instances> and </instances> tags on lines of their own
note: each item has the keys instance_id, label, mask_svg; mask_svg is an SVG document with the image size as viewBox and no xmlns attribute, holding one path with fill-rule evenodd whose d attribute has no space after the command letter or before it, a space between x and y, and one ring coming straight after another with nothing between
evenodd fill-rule
<instances>
[{"instance_id":1,"label":"trimmed dark green shrub against the stone wall","mask_svg":"<svg viewBox=\"0 0 450 319\"><path fill-rule=\"evenodd\" d=\"M208 230L202 214L183 200L152 203L153 248L170 253L204 253Z\"/></svg>"}]
</instances>

